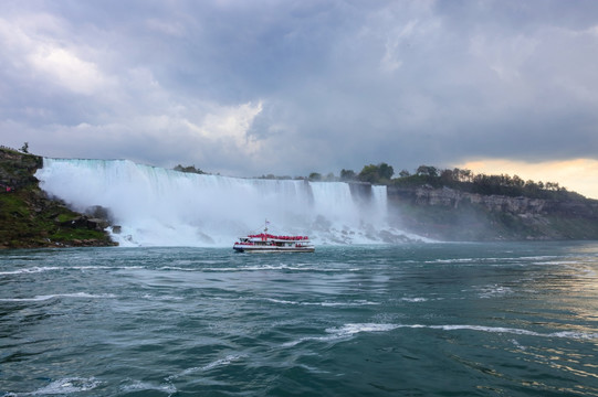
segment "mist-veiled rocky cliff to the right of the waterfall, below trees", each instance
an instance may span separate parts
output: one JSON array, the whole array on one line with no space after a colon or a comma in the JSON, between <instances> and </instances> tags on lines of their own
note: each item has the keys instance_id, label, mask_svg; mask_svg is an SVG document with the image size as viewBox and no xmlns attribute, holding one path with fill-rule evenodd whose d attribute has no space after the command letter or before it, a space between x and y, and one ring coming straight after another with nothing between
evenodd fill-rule
<instances>
[{"instance_id":1,"label":"mist-veiled rocky cliff to the right of the waterfall, below trees","mask_svg":"<svg viewBox=\"0 0 598 397\"><path fill-rule=\"evenodd\" d=\"M389 186L392 222L442 240L598 239L598 201Z\"/></svg>"}]
</instances>

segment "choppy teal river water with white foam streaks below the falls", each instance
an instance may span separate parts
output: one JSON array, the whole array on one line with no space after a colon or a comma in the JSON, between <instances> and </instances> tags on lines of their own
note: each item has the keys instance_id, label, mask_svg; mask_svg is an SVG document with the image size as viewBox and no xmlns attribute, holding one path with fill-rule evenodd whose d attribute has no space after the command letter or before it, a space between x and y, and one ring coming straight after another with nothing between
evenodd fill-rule
<instances>
[{"instance_id":1,"label":"choppy teal river water with white foam streaks below the falls","mask_svg":"<svg viewBox=\"0 0 598 397\"><path fill-rule=\"evenodd\" d=\"M598 396L598 244L0 253L0 396Z\"/></svg>"}]
</instances>

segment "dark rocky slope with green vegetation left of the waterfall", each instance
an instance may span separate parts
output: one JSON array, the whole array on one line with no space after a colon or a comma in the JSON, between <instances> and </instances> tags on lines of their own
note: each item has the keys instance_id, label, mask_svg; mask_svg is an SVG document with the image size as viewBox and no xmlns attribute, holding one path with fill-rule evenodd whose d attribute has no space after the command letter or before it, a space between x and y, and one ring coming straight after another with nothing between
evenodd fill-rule
<instances>
[{"instance_id":1,"label":"dark rocky slope with green vegetation left of the waterfall","mask_svg":"<svg viewBox=\"0 0 598 397\"><path fill-rule=\"evenodd\" d=\"M38 155L0 148L0 248L115 245L105 219L75 213L40 190Z\"/></svg>"}]
</instances>

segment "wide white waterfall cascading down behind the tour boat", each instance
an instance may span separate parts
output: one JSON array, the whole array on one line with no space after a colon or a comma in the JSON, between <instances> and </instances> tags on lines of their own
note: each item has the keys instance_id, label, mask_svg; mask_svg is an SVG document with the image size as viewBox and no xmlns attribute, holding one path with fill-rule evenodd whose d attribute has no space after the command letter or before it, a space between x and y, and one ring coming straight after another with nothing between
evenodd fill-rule
<instances>
[{"instance_id":1,"label":"wide white waterfall cascading down behind the tour boat","mask_svg":"<svg viewBox=\"0 0 598 397\"><path fill-rule=\"evenodd\" d=\"M230 246L258 232L310 235L316 244L375 243L401 235L386 224L386 187L356 197L348 183L182 173L127 160L44 159L35 176L78 212L101 205L123 246Z\"/></svg>"}]
</instances>

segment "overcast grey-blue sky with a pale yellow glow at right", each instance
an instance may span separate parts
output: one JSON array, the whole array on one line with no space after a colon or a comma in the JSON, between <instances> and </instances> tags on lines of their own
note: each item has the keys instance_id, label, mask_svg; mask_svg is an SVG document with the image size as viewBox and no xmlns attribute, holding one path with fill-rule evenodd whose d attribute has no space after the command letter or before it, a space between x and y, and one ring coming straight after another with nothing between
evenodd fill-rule
<instances>
[{"instance_id":1,"label":"overcast grey-blue sky with a pale yellow glow at right","mask_svg":"<svg viewBox=\"0 0 598 397\"><path fill-rule=\"evenodd\" d=\"M598 1L3 0L0 143L25 141L238 176L520 164L598 197Z\"/></svg>"}]
</instances>

